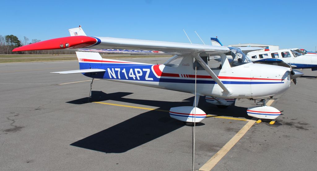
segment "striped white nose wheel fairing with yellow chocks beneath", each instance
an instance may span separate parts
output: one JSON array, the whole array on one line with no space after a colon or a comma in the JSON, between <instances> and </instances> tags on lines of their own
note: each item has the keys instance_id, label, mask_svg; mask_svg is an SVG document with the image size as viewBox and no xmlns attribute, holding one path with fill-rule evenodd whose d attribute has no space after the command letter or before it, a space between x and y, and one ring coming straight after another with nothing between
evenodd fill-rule
<instances>
[{"instance_id":1,"label":"striped white nose wheel fairing with yellow chocks beneath","mask_svg":"<svg viewBox=\"0 0 317 171\"><path fill-rule=\"evenodd\" d=\"M249 116L260 119L276 119L281 112L271 106L249 107L247 110Z\"/></svg>"}]
</instances>

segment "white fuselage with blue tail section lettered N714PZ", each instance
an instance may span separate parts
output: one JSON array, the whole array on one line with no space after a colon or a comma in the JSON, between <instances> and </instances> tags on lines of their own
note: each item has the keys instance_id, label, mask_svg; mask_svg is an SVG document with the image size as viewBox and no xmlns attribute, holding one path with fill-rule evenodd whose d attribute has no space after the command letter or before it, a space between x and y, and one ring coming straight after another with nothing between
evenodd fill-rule
<instances>
[{"instance_id":1,"label":"white fuselage with blue tail section lettered N714PZ","mask_svg":"<svg viewBox=\"0 0 317 171\"><path fill-rule=\"evenodd\" d=\"M178 56L178 58L182 58ZM205 71L197 70L197 94L223 98L265 98L278 95L290 86L289 68L247 63L231 67L223 54L222 67L214 69L220 80L232 90L227 95ZM127 61L81 61L80 68L105 69L105 72L85 73L85 76L124 82L135 85L169 89L187 93L195 92L195 67L193 58L182 58L179 64L141 64Z\"/></svg>"}]
</instances>

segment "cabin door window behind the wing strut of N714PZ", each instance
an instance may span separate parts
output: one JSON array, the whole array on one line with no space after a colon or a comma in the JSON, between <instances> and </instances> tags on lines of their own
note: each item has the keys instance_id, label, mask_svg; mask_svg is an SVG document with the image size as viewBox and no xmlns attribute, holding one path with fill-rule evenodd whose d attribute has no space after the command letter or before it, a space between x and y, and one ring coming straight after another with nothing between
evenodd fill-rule
<instances>
[{"instance_id":1,"label":"cabin door window behind the wing strut of N714PZ","mask_svg":"<svg viewBox=\"0 0 317 171\"><path fill-rule=\"evenodd\" d=\"M204 62L209 66L211 70L220 70L222 68L221 56L202 56ZM204 68L193 58L193 69L197 64L197 70L204 70Z\"/></svg>"}]
</instances>

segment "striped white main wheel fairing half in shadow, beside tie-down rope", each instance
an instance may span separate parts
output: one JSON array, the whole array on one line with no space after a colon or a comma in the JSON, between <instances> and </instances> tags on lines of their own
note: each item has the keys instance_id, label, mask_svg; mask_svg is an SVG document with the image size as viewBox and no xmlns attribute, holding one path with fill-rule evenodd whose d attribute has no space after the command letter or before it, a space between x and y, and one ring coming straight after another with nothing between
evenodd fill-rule
<instances>
[{"instance_id":1,"label":"striped white main wheel fairing half in shadow, beside tie-down rope","mask_svg":"<svg viewBox=\"0 0 317 171\"><path fill-rule=\"evenodd\" d=\"M196 116L195 116L196 108ZM201 122L206 118L206 113L193 106L172 107L170 109L171 118L184 121L184 122Z\"/></svg>"}]
</instances>

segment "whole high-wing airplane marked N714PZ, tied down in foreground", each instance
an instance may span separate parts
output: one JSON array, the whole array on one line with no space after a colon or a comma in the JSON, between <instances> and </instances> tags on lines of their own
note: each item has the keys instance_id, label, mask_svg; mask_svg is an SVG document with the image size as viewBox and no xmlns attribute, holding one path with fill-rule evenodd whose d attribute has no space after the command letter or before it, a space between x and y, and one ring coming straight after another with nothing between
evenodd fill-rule
<instances>
[{"instance_id":1,"label":"whole high-wing airplane marked N714PZ, tied down in foreground","mask_svg":"<svg viewBox=\"0 0 317 171\"><path fill-rule=\"evenodd\" d=\"M276 119L281 112L265 105L265 98L285 92L290 87L290 68L254 64L242 52L258 47L225 47L151 40L86 36L81 27L69 29L70 37L46 40L13 51L67 49L75 50L80 70L55 72L83 73L91 78L187 92L196 95L193 106L173 107L172 118L201 122L206 113L197 108L199 96L226 106L235 99L259 99L261 107L249 107L249 116ZM153 65L104 59L99 52L174 55L165 64ZM233 59L229 62L226 54ZM196 91L195 91L196 90Z\"/></svg>"}]
</instances>

